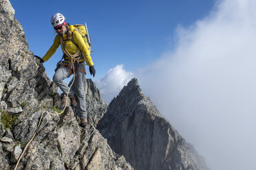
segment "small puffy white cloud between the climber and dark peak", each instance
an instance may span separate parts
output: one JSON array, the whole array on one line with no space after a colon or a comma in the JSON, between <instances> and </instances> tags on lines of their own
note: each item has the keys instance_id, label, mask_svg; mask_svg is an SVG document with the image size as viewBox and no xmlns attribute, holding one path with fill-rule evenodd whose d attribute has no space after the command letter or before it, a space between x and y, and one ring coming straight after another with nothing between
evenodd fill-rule
<instances>
[{"instance_id":1,"label":"small puffy white cloud between the climber and dark peak","mask_svg":"<svg viewBox=\"0 0 256 170\"><path fill-rule=\"evenodd\" d=\"M95 81L101 97L108 104L134 76L134 73L125 71L123 67L122 64L117 65L110 69L105 77Z\"/></svg>"}]
</instances>

